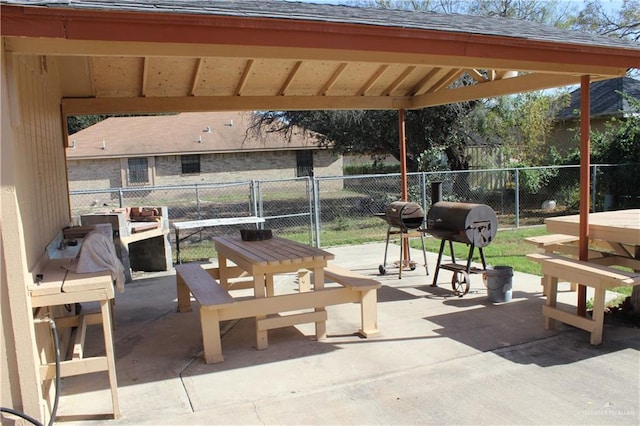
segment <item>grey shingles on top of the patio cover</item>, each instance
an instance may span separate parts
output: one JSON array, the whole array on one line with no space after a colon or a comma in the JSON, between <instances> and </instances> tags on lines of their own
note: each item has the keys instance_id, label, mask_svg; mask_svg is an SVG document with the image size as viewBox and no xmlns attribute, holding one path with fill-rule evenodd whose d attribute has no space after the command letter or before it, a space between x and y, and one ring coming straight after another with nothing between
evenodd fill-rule
<instances>
[{"instance_id":1,"label":"grey shingles on top of the patio cover","mask_svg":"<svg viewBox=\"0 0 640 426\"><path fill-rule=\"evenodd\" d=\"M451 33L514 37L599 46L624 45L596 34L569 31L522 19L434 12L265 0L2 0L2 3L54 6L69 9L119 10L147 13L201 14L243 18L306 20L384 27L415 28ZM637 48L632 42L630 47Z\"/></svg>"}]
</instances>

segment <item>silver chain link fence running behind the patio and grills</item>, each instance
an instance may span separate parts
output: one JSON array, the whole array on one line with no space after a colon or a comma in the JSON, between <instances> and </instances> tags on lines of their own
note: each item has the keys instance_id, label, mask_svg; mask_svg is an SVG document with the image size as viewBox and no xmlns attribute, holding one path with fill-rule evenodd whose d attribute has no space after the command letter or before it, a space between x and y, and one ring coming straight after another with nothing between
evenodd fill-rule
<instances>
[{"instance_id":1,"label":"silver chain link fence running behind the patio and grills","mask_svg":"<svg viewBox=\"0 0 640 426\"><path fill-rule=\"evenodd\" d=\"M592 210L640 207L640 165L593 165L590 172ZM578 166L410 173L407 178L409 201L425 212L431 183L441 182L444 200L487 204L501 228L542 225L545 217L579 211ZM400 188L400 174L384 174L72 191L70 199L72 216L142 206L167 206L172 222L258 216L276 235L327 247L384 241L387 226L376 213L400 199ZM237 235L247 226L202 228L184 241L181 236L181 258L211 258L211 237ZM169 238L175 247L173 232Z\"/></svg>"}]
</instances>

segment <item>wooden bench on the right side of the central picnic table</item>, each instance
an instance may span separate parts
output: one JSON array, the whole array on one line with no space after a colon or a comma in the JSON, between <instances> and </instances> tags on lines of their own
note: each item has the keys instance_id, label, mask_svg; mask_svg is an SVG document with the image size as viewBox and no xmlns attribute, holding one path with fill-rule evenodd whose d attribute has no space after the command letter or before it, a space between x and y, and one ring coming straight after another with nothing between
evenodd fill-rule
<instances>
[{"instance_id":1,"label":"wooden bench on the right side of the central picnic table","mask_svg":"<svg viewBox=\"0 0 640 426\"><path fill-rule=\"evenodd\" d=\"M306 269L298 271L298 288L301 292L311 289L311 272ZM352 291L358 292L358 303L360 303L360 319L362 328L358 334L363 337L377 336L377 290L382 287L379 281L367 278L357 272L343 268L335 264L328 264L324 268L324 277L327 282L335 282Z\"/></svg>"}]
</instances>

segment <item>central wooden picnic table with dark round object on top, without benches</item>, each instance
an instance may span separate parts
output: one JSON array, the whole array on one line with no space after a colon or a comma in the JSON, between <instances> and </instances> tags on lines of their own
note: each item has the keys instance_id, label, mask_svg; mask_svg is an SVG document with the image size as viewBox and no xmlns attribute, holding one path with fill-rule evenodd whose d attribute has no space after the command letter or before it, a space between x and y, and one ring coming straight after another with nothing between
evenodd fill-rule
<instances>
[{"instance_id":1,"label":"central wooden picnic table with dark round object on top, without benches","mask_svg":"<svg viewBox=\"0 0 640 426\"><path fill-rule=\"evenodd\" d=\"M315 292L324 288L324 268L327 266L327 262L334 258L334 255L327 251L279 237L264 241L242 241L240 237L216 237L213 238L213 241L218 253L220 284L225 288L228 287L230 277L228 261L235 263L253 276L256 299L273 298L273 312L287 310L284 302L282 309L278 309L277 304L280 303L280 299L273 297L275 296L274 275L308 269L313 273L313 290ZM321 292L318 294L320 295ZM303 300L303 297L309 297L304 294L298 296L301 296L300 300ZM287 321L286 318L256 316L256 347L258 349L268 347L267 330L269 328L300 323L299 319L291 318L290 321ZM315 322L317 339L326 338L326 311L324 307L316 307L315 315L307 315L305 318L307 320L304 322ZM273 322L273 324L269 322Z\"/></svg>"}]
</instances>

